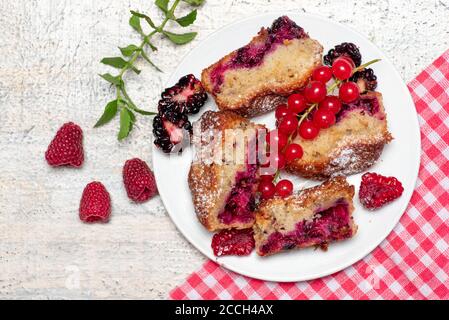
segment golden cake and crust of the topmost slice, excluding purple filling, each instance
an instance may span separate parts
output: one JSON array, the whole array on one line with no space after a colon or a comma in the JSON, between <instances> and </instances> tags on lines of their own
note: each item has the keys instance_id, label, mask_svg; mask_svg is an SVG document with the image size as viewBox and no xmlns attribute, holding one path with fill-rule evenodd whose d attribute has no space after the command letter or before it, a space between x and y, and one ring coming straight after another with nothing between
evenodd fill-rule
<instances>
[{"instance_id":1,"label":"golden cake and crust of the topmost slice, excluding purple filling","mask_svg":"<svg viewBox=\"0 0 449 320\"><path fill-rule=\"evenodd\" d=\"M212 81L214 70L227 65L227 63L236 57L239 50L250 46L260 46L261 43L266 43L267 39L270 38L270 30L272 30L274 25L279 23L279 21L282 23L291 23L294 28L300 30L300 36L298 36L298 38L286 39L282 43L277 44L272 52L266 53L260 65L250 68L239 67L238 69L228 70L231 75L228 75L227 77L224 76L226 79L223 81L236 84L235 87L237 89L232 90L232 96L237 97L236 99L230 99L229 94L224 94L220 92L220 90L217 91L216 84ZM298 27L287 17L278 18L273 23L271 29L262 28L258 35L245 47L229 53L216 63L204 69L201 74L201 82L206 91L214 97L218 108L220 110L232 110L244 117L253 117L267 113L274 110L279 104L285 103L286 97L303 88L312 76L313 70L322 64L323 47L321 44L318 41L311 39L302 28ZM291 49L289 49L289 47ZM278 51L279 48L286 53L284 56L276 58L276 51ZM288 50L292 50L292 52ZM275 61L271 61L270 59L275 59ZM239 73L247 73L249 75L250 72L254 72L255 70L257 72L263 70L265 65L267 65L268 60L271 61L272 67L268 72L269 74L266 74L267 72L264 71L264 76L262 76L259 81L256 81L256 85L247 88L247 91L249 92L244 94L239 92L238 89L242 87L242 83L239 83L241 80L239 77L242 74ZM288 61L288 63L294 61L294 64L287 65L287 62L285 61ZM283 65L283 63L285 65ZM257 76L256 73L252 74L250 79L253 80ZM245 83L246 81L243 81L243 85Z\"/></svg>"}]
</instances>

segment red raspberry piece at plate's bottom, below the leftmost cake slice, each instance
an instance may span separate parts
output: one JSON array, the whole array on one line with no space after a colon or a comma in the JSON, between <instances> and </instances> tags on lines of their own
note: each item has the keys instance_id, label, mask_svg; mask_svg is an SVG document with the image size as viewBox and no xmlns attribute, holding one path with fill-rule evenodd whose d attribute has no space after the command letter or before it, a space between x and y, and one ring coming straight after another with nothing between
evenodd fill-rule
<instances>
[{"instance_id":1,"label":"red raspberry piece at plate's bottom, below the leftmost cake slice","mask_svg":"<svg viewBox=\"0 0 449 320\"><path fill-rule=\"evenodd\" d=\"M253 229L222 230L214 234L211 246L217 257L227 255L247 256L255 247Z\"/></svg>"}]
</instances>

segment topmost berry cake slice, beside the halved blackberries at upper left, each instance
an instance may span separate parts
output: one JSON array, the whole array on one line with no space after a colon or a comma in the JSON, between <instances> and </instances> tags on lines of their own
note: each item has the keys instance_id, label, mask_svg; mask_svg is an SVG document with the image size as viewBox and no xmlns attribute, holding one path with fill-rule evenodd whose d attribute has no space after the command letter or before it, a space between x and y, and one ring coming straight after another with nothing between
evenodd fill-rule
<instances>
[{"instance_id":1,"label":"topmost berry cake slice, beside the halved blackberries at upper left","mask_svg":"<svg viewBox=\"0 0 449 320\"><path fill-rule=\"evenodd\" d=\"M286 16L262 28L246 46L203 70L201 81L220 110L252 117L304 87L321 65L323 47Z\"/></svg>"}]
</instances>

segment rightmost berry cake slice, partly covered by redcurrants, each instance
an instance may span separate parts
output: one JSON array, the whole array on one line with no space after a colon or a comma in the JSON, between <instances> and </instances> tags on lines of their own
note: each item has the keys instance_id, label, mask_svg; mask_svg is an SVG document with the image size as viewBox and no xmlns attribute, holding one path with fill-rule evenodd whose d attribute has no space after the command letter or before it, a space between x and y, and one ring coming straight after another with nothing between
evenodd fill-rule
<instances>
[{"instance_id":1,"label":"rightmost berry cake slice, partly covered by redcurrants","mask_svg":"<svg viewBox=\"0 0 449 320\"><path fill-rule=\"evenodd\" d=\"M304 155L287 164L287 171L315 180L359 173L371 167L393 139L379 92L369 91L356 102L344 104L336 118L313 140L295 138Z\"/></svg>"}]
</instances>

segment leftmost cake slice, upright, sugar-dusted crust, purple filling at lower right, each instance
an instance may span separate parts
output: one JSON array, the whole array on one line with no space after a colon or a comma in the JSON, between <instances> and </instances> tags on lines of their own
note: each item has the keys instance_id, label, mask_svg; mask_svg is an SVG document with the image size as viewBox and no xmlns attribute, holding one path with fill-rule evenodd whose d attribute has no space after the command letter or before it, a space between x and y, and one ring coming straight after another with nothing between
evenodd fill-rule
<instances>
[{"instance_id":1,"label":"leftmost cake slice, upright, sugar-dusted crust, purple filling at lower right","mask_svg":"<svg viewBox=\"0 0 449 320\"><path fill-rule=\"evenodd\" d=\"M198 219L209 231L254 224L258 163L252 155L260 130L266 132L231 111L206 111L194 124L188 183Z\"/></svg>"}]
</instances>

